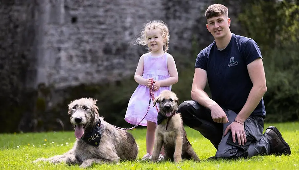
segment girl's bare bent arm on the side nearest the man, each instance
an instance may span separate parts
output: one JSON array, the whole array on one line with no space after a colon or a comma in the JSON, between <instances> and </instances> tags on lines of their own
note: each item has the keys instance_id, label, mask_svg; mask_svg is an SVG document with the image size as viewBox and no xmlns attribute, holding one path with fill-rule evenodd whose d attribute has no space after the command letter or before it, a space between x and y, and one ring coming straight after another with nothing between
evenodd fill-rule
<instances>
[{"instance_id":1,"label":"girl's bare bent arm on the side nearest the man","mask_svg":"<svg viewBox=\"0 0 299 170\"><path fill-rule=\"evenodd\" d=\"M179 75L178 75L177 69L176 69L176 62L174 61L172 55L169 54L169 55L167 55L167 57L168 57L167 58L167 68L168 68L170 77L165 80L157 81L160 84L160 87L170 86L179 81ZM158 87L158 88L160 88L160 87ZM155 87L154 87L154 90L157 90L157 89L155 89Z\"/></svg>"}]
</instances>

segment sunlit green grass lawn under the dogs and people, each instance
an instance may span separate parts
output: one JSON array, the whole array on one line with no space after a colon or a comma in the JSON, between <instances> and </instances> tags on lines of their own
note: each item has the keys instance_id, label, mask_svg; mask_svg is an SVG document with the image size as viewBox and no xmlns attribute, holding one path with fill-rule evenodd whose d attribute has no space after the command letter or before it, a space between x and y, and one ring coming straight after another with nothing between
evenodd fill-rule
<instances>
[{"instance_id":1,"label":"sunlit green grass lawn under the dogs and people","mask_svg":"<svg viewBox=\"0 0 299 170\"><path fill-rule=\"evenodd\" d=\"M266 124L266 128L269 124ZM216 149L209 140L197 131L186 127L189 141L199 158L200 163L182 161L142 163L138 161L120 162L118 164L94 165L89 169L299 169L299 122L275 123L291 147L291 156L255 156L250 159L206 161L214 156ZM139 145L139 158L146 153L145 129L130 131ZM48 132L24 134L0 134L0 169L79 169L79 166L51 164L32 161L40 157L50 157L71 149L75 140L74 132Z\"/></svg>"}]
</instances>

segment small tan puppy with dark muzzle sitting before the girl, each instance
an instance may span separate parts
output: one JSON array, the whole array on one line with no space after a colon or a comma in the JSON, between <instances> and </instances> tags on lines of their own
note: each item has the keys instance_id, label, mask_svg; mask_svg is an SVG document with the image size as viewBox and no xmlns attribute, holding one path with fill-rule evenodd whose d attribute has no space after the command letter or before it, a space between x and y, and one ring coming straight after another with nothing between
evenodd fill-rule
<instances>
[{"instance_id":1,"label":"small tan puppy with dark muzzle sitting before the girl","mask_svg":"<svg viewBox=\"0 0 299 170\"><path fill-rule=\"evenodd\" d=\"M162 145L164 145L165 159L180 162L182 159L200 161L187 139L181 119L177 113L178 98L172 91L165 90L154 100L154 106L159 103L158 125L152 161L157 162Z\"/></svg>"}]
</instances>

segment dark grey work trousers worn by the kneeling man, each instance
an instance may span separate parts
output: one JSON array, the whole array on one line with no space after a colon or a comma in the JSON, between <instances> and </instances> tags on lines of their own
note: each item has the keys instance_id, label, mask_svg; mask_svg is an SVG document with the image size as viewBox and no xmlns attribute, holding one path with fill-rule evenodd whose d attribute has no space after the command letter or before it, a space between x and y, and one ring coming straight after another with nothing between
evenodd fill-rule
<instances>
[{"instance_id":1,"label":"dark grey work trousers worn by the kneeling man","mask_svg":"<svg viewBox=\"0 0 299 170\"><path fill-rule=\"evenodd\" d=\"M184 101L179 105L178 112L181 113L183 122L190 128L199 131L217 149L215 157L237 159L250 158L255 155L268 155L270 144L263 135L264 117L251 115L244 123L247 142L244 146L232 140L229 131L223 136L224 130L235 120L237 113L222 107L229 120L228 123L216 123L211 117L211 111L193 100Z\"/></svg>"}]
</instances>

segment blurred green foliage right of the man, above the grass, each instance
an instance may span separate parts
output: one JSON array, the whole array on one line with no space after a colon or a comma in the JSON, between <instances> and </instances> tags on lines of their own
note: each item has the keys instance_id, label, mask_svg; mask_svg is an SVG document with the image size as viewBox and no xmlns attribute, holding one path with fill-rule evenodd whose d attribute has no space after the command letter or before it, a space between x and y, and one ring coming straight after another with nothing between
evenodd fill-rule
<instances>
[{"instance_id":1,"label":"blurred green foliage right of the man, above the grass","mask_svg":"<svg viewBox=\"0 0 299 170\"><path fill-rule=\"evenodd\" d=\"M286 0L249 3L239 15L239 22L245 36L258 43L264 58L266 120L298 120L299 6Z\"/></svg>"}]
</instances>

